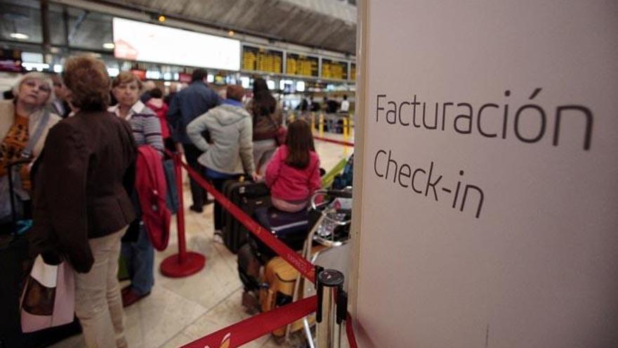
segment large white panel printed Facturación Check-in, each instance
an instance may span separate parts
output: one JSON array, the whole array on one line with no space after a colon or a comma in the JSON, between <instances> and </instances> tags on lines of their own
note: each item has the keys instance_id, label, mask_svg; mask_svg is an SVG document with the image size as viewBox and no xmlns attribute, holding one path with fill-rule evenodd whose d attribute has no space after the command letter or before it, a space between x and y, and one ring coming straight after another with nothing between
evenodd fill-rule
<instances>
[{"instance_id":1,"label":"large white panel printed Facturaci\u00f3n Check-in","mask_svg":"<svg viewBox=\"0 0 618 348\"><path fill-rule=\"evenodd\" d=\"M367 0L360 347L618 347L618 4Z\"/></svg>"}]
</instances>

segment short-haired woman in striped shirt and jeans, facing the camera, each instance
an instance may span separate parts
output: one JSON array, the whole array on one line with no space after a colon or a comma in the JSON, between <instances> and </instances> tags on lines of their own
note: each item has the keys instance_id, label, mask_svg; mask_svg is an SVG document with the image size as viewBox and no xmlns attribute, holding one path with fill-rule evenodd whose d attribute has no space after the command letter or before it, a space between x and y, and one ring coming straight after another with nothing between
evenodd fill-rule
<instances>
[{"instance_id":1,"label":"short-haired woman in striped shirt and jeans, facing the camera","mask_svg":"<svg viewBox=\"0 0 618 348\"><path fill-rule=\"evenodd\" d=\"M108 110L129 121L137 146L150 145L163 157L161 122L155 112L140 101L141 89L142 83L135 75L121 72L112 82L112 94L118 104ZM139 216L140 207L136 194L133 194L133 202ZM131 285L122 289L122 304L127 307L150 295L155 283L155 249L140 218L129 227L123 238L121 252L131 278Z\"/></svg>"}]
</instances>

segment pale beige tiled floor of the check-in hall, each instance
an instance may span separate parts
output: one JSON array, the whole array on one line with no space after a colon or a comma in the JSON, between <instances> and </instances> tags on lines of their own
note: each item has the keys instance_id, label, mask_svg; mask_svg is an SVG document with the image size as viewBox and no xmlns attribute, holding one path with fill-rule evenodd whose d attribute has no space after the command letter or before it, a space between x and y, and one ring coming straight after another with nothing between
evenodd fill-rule
<instances>
[{"instance_id":1,"label":"pale beige tiled floor of the check-in hall","mask_svg":"<svg viewBox=\"0 0 618 348\"><path fill-rule=\"evenodd\" d=\"M327 134L341 139L341 135ZM352 153L343 146L315 142L321 166L327 171L341 158ZM185 183L187 181L185 180ZM190 192L185 184L185 205ZM185 209L188 250L206 255L202 271L187 278L167 278L155 269L155 287L150 296L125 309L126 335L131 348L180 347L216 330L249 318L241 305L242 283L237 275L236 255L224 245L212 240L212 205L203 214ZM157 252L155 264L178 252L176 220L172 220L170 243L166 250ZM81 335L54 344L53 348L85 347ZM265 335L243 347L294 347L277 344Z\"/></svg>"}]
</instances>

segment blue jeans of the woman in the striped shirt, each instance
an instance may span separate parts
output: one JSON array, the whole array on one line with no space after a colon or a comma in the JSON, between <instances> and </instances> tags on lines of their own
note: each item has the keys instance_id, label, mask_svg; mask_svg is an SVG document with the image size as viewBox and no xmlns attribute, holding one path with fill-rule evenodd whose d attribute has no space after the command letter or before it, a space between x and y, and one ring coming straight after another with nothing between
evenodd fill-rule
<instances>
[{"instance_id":1,"label":"blue jeans of the woman in the striped shirt","mask_svg":"<svg viewBox=\"0 0 618 348\"><path fill-rule=\"evenodd\" d=\"M155 284L155 248L152 247L150 236L143 221L140 221L140 232L137 242L123 242L122 256L126 259L126 268L131 277L131 288L138 295L145 295Z\"/></svg>"}]
</instances>

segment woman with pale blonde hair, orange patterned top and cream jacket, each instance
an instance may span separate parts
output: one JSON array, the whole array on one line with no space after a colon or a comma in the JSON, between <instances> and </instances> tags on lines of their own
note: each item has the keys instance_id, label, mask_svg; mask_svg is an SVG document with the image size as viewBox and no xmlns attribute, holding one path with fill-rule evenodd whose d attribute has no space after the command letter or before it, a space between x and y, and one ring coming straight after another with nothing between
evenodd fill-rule
<instances>
[{"instance_id":1,"label":"woman with pale blonde hair, orange patterned top and cream jacket","mask_svg":"<svg viewBox=\"0 0 618 348\"><path fill-rule=\"evenodd\" d=\"M51 79L41 72L23 75L13 87L15 99L0 101L0 180L6 180L6 165L20 158L34 159L43 145L49 129L60 121L46 106L53 101ZM22 188L30 189L28 166L20 170ZM8 189L8 186L3 186ZM2 193L0 222L11 219L11 195ZM4 202L7 200L7 202Z\"/></svg>"}]
</instances>

